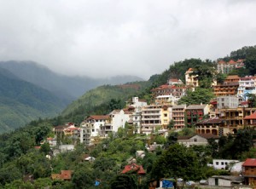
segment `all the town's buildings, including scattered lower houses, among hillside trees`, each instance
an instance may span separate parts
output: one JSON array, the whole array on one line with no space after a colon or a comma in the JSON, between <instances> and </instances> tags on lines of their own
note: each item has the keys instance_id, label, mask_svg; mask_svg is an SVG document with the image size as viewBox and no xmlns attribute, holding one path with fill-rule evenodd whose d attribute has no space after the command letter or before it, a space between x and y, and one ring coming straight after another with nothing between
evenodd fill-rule
<instances>
[{"instance_id":1,"label":"all the town's buildings, including scattered lower houses, among hillside trees","mask_svg":"<svg viewBox=\"0 0 256 189\"><path fill-rule=\"evenodd\" d=\"M216 72L228 74L234 69L243 67L243 61L220 60ZM53 129L55 137L47 139L49 146L55 149L54 154L58 154L73 151L74 146L79 143L96 146L101 140L116 134L119 129L127 129L131 135L140 134L148 137L160 135L167 138L170 132L180 132L185 128L195 129L195 134L177 136L178 144L186 147L207 146L209 140L218 143L221 136L236 135L239 129L254 129L256 107L250 106L248 94L256 94L255 76L228 75L222 83L217 83L213 79L212 89L215 97L208 104L179 104L179 100L186 96L188 91L195 91L201 83L193 72L193 68L189 68L184 73L184 83L179 78L170 77L166 84L151 89L152 100L149 103L135 96L126 101L123 109L113 110L107 115L90 115L85 117L79 125L67 123L55 126ZM73 142L69 145L62 145L60 139L64 137L72 139ZM256 145L256 141L253 140L253 142ZM154 142L154 144L148 144L148 151L154 151L156 146L163 147ZM143 167L136 163L136 158L143 158L144 153L144 151L137 151L135 158L131 158L121 173L132 169L138 171L138 175L146 175ZM87 155L84 160L95 161L95 158ZM201 188L256 185L256 172L253 172L256 169L254 158L247 158L244 162L237 159L213 159L208 166L214 169L228 169L231 175L213 175L208 180L201 180L201 185L203 185ZM71 174L69 175L70 179ZM55 179L55 177L56 175L52 175L52 178ZM178 181L164 179L160 180L160 187L151 183L152 186L149 188L166 188L166 185L172 188L173 183L178 184ZM180 180L180 183L183 183L183 180ZM183 183L184 185L192 187L195 183L191 181Z\"/></svg>"}]
</instances>

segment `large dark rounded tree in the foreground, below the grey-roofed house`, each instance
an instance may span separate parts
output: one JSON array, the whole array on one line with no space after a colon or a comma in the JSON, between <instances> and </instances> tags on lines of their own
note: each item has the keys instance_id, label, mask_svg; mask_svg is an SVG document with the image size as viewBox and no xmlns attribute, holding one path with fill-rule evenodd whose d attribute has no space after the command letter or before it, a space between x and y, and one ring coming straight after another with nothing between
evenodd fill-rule
<instances>
[{"instance_id":1,"label":"large dark rounded tree in the foreground, below the grey-roofed house","mask_svg":"<svg viewBox=\"0 0 256 189\"><path fill-rule=\"evenodd\" d=\"M186 146L174 144L169 146L154 163L151 177L200 180L201 165L195 152Z\"/></svg>"}]
</instances>

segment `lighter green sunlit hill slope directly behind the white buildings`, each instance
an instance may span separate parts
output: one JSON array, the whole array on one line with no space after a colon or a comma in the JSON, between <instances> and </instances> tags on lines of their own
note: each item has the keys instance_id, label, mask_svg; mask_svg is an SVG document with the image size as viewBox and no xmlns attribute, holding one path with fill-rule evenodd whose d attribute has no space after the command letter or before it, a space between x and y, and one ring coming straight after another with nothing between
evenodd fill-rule
<instances>
[{"instance_id":1,"label":"lighter green sunlit hill slope directly behind the white buildings","mask_svg":"<svg viewBox=\"0 0 256 189\"><path fill-rule=\"evenodd\" d=\"M90 114L108 114L114 108L124 107L126 100L141 94L150 84L150 82L135 82L123 85L104 85L91 89L67 106L61 113L61 117L67 121L80 123ZM61 117L57 118L62 119Z\"/></svg>"}]
</instances>

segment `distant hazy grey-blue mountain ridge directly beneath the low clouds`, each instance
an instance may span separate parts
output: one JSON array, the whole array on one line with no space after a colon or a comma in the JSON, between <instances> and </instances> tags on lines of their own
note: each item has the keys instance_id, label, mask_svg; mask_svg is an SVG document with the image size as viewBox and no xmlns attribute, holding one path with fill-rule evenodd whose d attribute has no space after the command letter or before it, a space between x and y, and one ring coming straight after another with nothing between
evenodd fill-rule
<instances>
[{"instance_id":1,"label":"distant hazy grey-blue mountain ridge directly beneath the low clouds","mask_svg":"<svg viewBox=\"0 0 256 189\"><path fill-rule=\"evenodd\" d=\"M0 61L3 67L15 76L27 82L47 89L62 100L76 100L86 91L103 84L121 84L134 81L143 81L135 76L116 76L109 78L72 77L52 72L49 68L32 61Z\"/></svg>"}]
</instances>

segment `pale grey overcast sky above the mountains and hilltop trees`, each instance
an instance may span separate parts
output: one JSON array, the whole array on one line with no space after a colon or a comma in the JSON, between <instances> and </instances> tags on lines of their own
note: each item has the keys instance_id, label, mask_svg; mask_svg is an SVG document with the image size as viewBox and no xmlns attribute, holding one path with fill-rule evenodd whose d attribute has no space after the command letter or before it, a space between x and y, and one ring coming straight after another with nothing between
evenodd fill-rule
<instances>
[{"instance_id":1,"label":"pale grey overcast sky above the mountains and hilltop trees","mask_svg":"<svg viewBox=\"0 0 256 189\"><path fill-rule=\"evenodd\" d=\"M254 0L0 0L0 60L148 79L256 45Z\"/></svg>"}]
</instances>

